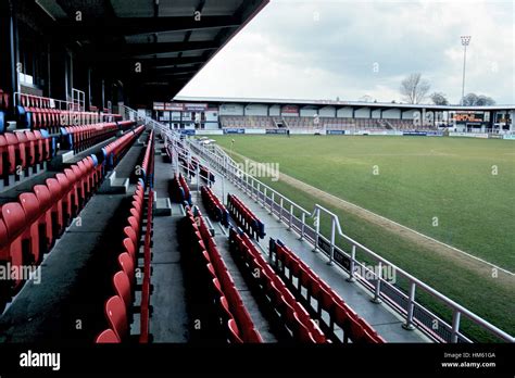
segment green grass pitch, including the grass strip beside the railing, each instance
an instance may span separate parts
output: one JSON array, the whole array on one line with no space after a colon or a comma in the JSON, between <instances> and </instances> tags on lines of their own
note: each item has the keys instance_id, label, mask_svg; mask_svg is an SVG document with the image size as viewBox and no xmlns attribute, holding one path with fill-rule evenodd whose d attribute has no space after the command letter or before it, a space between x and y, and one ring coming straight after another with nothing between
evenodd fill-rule
<instances>
[{"instance_id":1,"label":"green grass pitch, including the grass strip beside the railing","mask_svg":"<svg viewBox=\"0 0 515 378\"><path fill-rule=\"evenodd\" d=\"M515 270L515 143L440 137L224 136L230 151L352 202L472 255ZM321 203L343 231L511 332L513 279L459 264L426 245L393 237L291 184L263 181L307 210ZM422 295L420 301L424 301ZM429 299L430 301L430 299ZM438 308L437 308L438 310ZM442 316L449 317L443 308ZM463 326L466 328L467 323ZM474 330L474 327L470 327ZM479 335L481 338L481 335Z\"/></svg>"}]
</instances>

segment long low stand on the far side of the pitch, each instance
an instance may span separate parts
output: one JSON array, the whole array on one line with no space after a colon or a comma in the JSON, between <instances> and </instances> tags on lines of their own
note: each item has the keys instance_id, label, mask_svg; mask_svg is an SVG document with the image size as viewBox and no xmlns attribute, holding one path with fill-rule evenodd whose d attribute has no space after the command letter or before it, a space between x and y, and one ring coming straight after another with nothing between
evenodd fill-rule
<instances>
[{"instance_id":1,"label":"long low stand on the far side of the pitch","mask_svg":"<svg viewBox=\"0 0 515 378\"><path fill-rule=\"evenodd\" d=\"M200 113L198 122L192 114ZM210 117L205 116L210 114ZM474 114L473 119L462 115ZM202 135L239 133L377 134L491 133L512 134L512 105L456 106L356 101L176 97L154 102L153 116L171 128ZM197 131L193 131L197 130ZM183 131L184 133L184 131Z\"/></svg>"}]
</instances>

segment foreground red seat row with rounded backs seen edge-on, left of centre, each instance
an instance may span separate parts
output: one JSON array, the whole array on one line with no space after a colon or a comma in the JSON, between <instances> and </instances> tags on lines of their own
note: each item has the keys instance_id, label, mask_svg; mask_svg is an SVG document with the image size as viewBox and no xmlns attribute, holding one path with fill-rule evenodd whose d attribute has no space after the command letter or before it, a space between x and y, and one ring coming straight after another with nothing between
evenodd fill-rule
<instances>
[{"instance_id":1,"label":"foreground red seat row with rounded backs seen edge-on, left of centre","mask_svg":"<svg viewBox=\"0 0 515 378\"><path fill-rule=\"evenodd\" d=\"M143 181L139 180L133 196L126 227L124 228L123 251L117 256L120 270L113 276L114 295L105 301L104 312L109 328L97 336L97 343L118 343L129 341L131 318L135 307L135 291L137 289L136 269L139 269L139 250L143 226L145 209L147 223L143 242L143 279L141 285L140 335L139 342L149 342L150 318L150 238L152 232L152 190L145 200Z\"/></svg>"}]
</instances>

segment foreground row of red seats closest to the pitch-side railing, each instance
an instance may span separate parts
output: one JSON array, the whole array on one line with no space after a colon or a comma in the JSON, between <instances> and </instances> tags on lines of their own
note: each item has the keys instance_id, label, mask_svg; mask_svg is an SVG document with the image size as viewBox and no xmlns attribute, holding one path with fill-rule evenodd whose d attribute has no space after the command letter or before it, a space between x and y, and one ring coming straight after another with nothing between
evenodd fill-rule
<instances>
[{"instance_id":1,"label":"foreground row of red seats closest to the pitch-side railing","mask_svg":"<svg viewBox=\"0 0 515 378\"><path fill-rule=\"evenodd\" d=\"M316 300L316 314L321 327L324 325L326 335L331 333L334 341L353 343L384 343L385 340L362 317L360 317L323 279L321 279L302 260L300 260L280 240L269 241L269 257L276 272L288 281L298 298L310 307L313 306L312 299ZM293 280L293 278L296 280ZM303 289L306 295L303 295ZM329 317L326 323L323 312ZM343 331L339 338L335 332L335 326Z\"/></svg>"}]
</instances>

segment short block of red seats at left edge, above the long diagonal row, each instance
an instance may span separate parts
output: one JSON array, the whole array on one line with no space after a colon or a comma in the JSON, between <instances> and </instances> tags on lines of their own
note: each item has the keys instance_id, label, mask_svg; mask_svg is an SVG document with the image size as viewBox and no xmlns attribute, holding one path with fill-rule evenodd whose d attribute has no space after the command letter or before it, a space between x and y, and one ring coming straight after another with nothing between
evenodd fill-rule
<instances>
[{"instance_id":1,"label":"short block of red seats at left edge, above the long diagonal row","mask_svg":"<svg viewBox=\"0 0 515 378\"><path fill-rule=\"evenodd\" d=\"M20 175L21 171L50 160L54 140L45 130L0 135L0 176Z\"/></svg>"}]
</instances>

